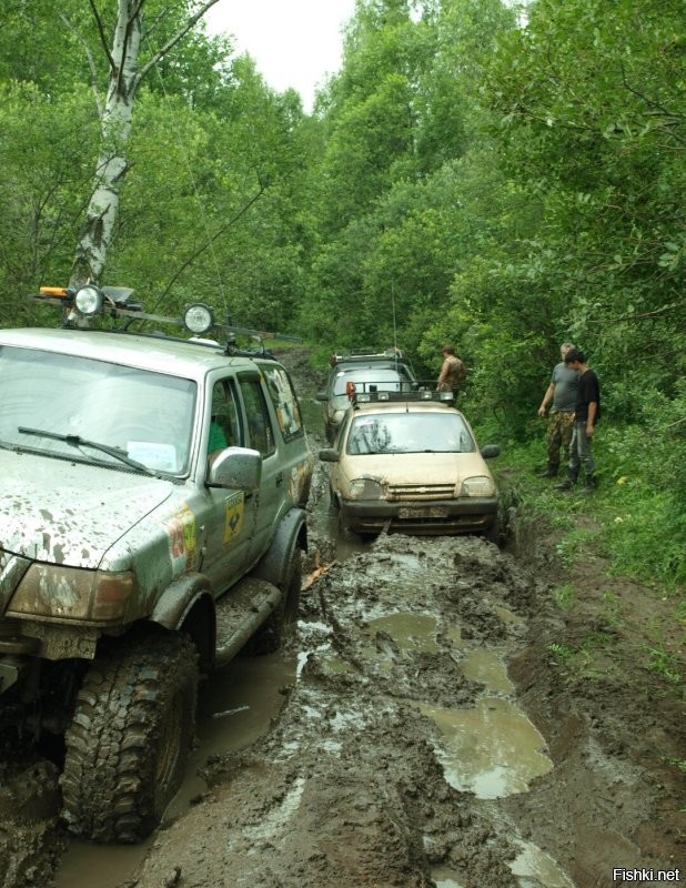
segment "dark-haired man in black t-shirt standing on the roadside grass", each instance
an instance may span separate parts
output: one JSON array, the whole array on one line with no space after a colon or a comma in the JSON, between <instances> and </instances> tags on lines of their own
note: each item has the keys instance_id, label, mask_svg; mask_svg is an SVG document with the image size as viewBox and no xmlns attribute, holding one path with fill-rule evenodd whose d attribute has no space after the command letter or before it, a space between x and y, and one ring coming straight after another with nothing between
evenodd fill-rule
<instances>
[{"instance_id":1,"label":"dark-haired man in black t-shirt standing on the roadside grass","mask_svg":"<svg viewBox=\"0 0 686 888\"><path fill-rule=\"evenodd\" d=\"M555 487L558 491L568 491L578 478L582 464L584 465L584 491L595 490L595 463L591 450L591 442L595 434L595 425L601 418L601 383L595 371L586 363L586 355L578 349L571 349L565 355L565 364L578 373L578 387L576 391L576 405L574 410L574 426L572 443L569 444L569 465L567 477Z\"/></svg>"}]
</instances>

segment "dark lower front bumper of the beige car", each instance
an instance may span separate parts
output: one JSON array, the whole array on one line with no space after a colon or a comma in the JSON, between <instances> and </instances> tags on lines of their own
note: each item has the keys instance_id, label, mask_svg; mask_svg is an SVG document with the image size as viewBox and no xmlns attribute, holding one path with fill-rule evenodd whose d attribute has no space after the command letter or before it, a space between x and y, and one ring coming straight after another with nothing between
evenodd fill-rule
<instances>
[{"instance_id":1,"label":"dark lower front bumper of the beige car","mask_svg":"<svg viewBox=\"0 0 686 888\"><path fill-rule=\"evenodd\" d=\"M343 500L343 521L351 531L380 532L384 527L415 534L460 534L487 531L497 516L496 496L470 496L428 502Z\"/></svg>"}]
</instances>

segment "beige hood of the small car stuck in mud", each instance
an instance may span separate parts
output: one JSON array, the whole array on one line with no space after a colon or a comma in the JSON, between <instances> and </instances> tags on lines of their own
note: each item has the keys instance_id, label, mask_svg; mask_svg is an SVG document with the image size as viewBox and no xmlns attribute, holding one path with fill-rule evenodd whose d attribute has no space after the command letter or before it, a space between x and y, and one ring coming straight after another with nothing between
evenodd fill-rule
<instances>
[{"instance_id":1,"label":"beige hood of the small car stuck in mud","mask_svg":"<svg viewBox=\"0 0 686 888\"><path fill-rule=\"evenodd\" d=\"M344 474L386 484L456 484L476 475L490 476L483 456L475 453L383 453L341 462Z\"/></svg>"}]
</instances>

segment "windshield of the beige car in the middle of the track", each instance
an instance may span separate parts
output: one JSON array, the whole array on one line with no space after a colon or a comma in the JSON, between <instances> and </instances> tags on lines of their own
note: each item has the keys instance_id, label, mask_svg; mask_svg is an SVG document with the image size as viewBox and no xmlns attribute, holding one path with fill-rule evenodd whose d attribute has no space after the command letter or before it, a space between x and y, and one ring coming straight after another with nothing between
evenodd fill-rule
<instances>
[{"instance_id":1,"label":"windshield of the beige car in the middle of the track","mask_svg":"<svg viewBox=\"0 0 686 888\"><path fill-rule=\"evenodd\" d=\"M474 438L456 413L365 414L353 420L346 451L375 453L473 453Z\"/></svg>"}]
</instances>

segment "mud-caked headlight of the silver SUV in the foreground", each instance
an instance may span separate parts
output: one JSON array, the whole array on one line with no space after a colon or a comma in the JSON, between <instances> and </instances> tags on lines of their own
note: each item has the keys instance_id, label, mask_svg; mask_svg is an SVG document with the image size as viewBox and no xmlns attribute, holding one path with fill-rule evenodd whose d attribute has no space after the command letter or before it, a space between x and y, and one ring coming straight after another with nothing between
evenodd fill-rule
<instances>
[{"instance_id":1,"label":"mud-caked headlight of the silver SUV in the foreground","mask_svg":"<svg viewBox=\"0 0 686 888\"><path fill-rule=\"evenodd\" d=\"M14 593L8 616L121 619L135 589L131 572L107 573L32 564Z\"/></svg>"}]
</instances>

